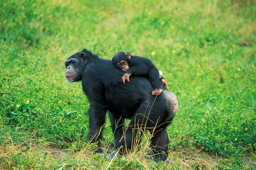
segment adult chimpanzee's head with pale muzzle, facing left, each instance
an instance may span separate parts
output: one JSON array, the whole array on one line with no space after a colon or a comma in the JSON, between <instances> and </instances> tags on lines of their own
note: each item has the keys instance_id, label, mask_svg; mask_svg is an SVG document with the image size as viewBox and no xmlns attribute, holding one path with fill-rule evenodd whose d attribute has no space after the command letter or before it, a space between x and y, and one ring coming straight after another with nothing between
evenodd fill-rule
<instances>
[{"instance_id":1,"label":"adult chimpanzee's head with pale muzzle, facing left","mask_svg":"<svg viewBox=\"0 0 256 170\"><path fill-rule=\"evenodd\" d=\"M83 49L82 52L75 53L68 57L65 62L66 73L65 78L67 82L74 82L82 80L82 73L85 69L86 63L89 60L91 52Z\"/></svg>"}]
</instances>

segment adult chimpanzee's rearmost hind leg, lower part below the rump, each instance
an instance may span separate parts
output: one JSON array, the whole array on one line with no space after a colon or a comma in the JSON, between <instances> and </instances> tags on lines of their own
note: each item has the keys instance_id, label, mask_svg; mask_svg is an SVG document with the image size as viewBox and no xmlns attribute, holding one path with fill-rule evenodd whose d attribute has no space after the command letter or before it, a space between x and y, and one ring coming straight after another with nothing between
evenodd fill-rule
<instances>
[{"instance_id":1,"label":"adult chimpanzee's rearmost hind leg, lower part below the rump","mask_svg":"<svg viewBox=\"0 0 256 170\"><path fill-rule=\"evenodd\" d=\"M153 158L157 162L159 160L166 160L168 156L169 138L165 129L162 129L151 138L151 145L153 147Z\"/></svg>"}]
</instances>

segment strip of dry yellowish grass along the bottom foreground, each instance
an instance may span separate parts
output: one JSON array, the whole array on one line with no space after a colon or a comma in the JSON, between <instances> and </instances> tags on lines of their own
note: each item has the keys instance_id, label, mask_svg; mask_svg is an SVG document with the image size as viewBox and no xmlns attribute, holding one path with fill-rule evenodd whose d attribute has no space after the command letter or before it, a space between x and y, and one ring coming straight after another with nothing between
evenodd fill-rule
<instances>
[{"instance_id":1,"label":"strip of dry yellowish grass along the bottom foreground","mask_svg":"<svg viewBox=\"0 0 256 170\"><path fill-rule=\"evenodd\" d=\"M166 162L155 163L143 157L149 151L148 138L143 138L141 143L143 145L138 146L136 151L124 157L116 155L113 159L104 159L107 154L93 155L86 144L82 150L73 152L46 141L29 139L20 145L13 145L12 139L7 139L0 146L0 169L227 169L232 164L231 159L218 154L187 147L175 151L170 149ZM102 146L103 150L113 152L110 143L103 142ZM93 160L95 164L92 164ZM247 155L244 168L255 167L256 160Z\"/></svg>"}]
</instances>

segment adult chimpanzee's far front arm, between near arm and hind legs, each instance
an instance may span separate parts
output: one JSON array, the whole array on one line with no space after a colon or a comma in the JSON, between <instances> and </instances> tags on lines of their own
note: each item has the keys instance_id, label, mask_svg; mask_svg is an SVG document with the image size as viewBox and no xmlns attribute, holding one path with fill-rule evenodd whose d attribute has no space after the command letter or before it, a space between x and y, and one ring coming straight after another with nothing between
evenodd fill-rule
<instances>
[{"instance_id":1,"label":"adult chimpanzee's far front arm, between near arm and hind legs","mask_svg":"<svg viewBox=\"0 0 256 170\"><path fill-rule=\"evenodd\" d=\"M115 149L117 149L117 146L119 145L119 142L124 134L124 118L116 118L111 112L109 112L109 119L111 123L111 128L114 133L115 138Z\"/></svg>"}]
</instances>

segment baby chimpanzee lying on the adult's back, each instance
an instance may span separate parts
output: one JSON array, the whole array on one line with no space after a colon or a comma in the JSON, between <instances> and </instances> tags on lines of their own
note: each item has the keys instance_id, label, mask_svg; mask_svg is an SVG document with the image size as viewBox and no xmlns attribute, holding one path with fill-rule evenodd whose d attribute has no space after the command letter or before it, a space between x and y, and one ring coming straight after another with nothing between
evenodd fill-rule
<instances>
[{"instance_id":1,"label":"baby chimpanzee lying on the adult's back","mask_svg":"<svg viewBox=\"0 0 256 170\"><path fill-rule=\"evenodd\" d=\"M162 84L167 87L166 81L162 76L159 77L159 71L148 58L133 56L130 55L129 52L118 52L112 58L112 63L115 67L125 72L122 78L124 83L125 80L130 82L129 77L131 74L146 76L151 82L151 85L155 88L152 92L154 96L161 94L163 91L163 89L161 89ZM161 81L159 81L159 78Z\"/></svg>"}]
</instances>

